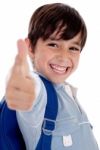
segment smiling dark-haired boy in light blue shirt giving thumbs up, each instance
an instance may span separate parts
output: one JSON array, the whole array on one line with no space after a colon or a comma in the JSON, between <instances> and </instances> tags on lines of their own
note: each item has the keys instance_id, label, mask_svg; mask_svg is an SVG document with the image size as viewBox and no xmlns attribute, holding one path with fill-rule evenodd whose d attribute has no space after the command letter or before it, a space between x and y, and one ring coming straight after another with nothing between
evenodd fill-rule
<instances>
[{"instance_id":1,"label":"smiling dark-haired boy in light blue shirt giving thumbs up","mask_svg":"<svg viewBox=\"0 0 100 150\"><path fill-rule=\"evenodd\" d=\"M17 43L5 94L7 109L16 111L26 147L22 149L98 150L75 89L65 82L77 69L86 37L82 17L68 5L47 4L32 15L28 38ZM33 62L31 73L27 55Z\"/></svg>"}]
</instances>

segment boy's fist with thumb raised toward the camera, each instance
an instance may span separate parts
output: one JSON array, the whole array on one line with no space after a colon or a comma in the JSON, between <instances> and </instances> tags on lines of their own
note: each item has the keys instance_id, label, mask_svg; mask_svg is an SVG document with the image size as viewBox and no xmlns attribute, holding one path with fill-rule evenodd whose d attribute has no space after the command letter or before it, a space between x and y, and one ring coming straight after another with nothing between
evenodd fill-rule
<instances>
[{"instance_id":1,"label":"boy's fist with thumb raised toward the camera","mask_svg":"<svg viewBox=\"0 0 100 150\"><path fill-rule=\"evenodd\" d=\"M17 42L18 54L6 85L6 102L10 109L26 111L35 99L34 79L27 62L28 47L23 40Z\"/></svg>"}]
</instances>

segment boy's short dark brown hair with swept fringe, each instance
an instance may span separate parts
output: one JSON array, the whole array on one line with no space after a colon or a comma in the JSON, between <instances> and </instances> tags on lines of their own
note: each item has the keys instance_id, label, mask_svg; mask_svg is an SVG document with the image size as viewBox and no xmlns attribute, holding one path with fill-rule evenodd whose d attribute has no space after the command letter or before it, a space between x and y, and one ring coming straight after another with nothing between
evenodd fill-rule
<instances>
[{"instance_id":1,"label":"boy's short dark brown hair with swept fringe","mask_svg":"<svg viewBox=\"0 0 100 150\"><path fill-rule=\"evenodd\" d=\"M39 38L48 39L55 31L61 32L60 39L72 39L81 33L81 48L87 38L85 22L79 12L63 3L46 4L39 7L32 15L29 23L28 38L34 47Z\"/></svg>"}]
</instances>

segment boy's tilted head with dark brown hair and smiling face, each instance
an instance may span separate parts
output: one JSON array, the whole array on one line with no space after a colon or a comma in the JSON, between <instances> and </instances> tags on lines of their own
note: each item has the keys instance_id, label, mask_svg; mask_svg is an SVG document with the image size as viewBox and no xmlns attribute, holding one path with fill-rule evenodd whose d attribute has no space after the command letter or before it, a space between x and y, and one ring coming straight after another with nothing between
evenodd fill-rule
<instances>
[{"instance_id":1,"label":"boy's tilted head with dark brown hair and smiling face","mask_svg":"<svg viewBox=\"0 0 100 150\"><path fill-rule=\"evenodd\" d=\"M54 83L76 70L87 30L79 13L68 5L41 6L29 24L28 46L35 69Z\"/></svg>"}]
</instances>

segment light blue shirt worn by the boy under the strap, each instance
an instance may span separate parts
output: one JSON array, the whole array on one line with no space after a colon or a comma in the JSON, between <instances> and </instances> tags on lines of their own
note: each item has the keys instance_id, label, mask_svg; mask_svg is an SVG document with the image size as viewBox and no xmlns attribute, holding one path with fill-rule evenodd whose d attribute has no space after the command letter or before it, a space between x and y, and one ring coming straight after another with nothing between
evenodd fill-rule
<instances>
[{"instance_id":1,"label":"light blue shirt worn by the boy under the strap","mask_svg":"<svg viewBox=\"0 0 100 150\"><path fill-rule=\"evenodd\" d=\"M58 96L58 115L56 128L52 134L51 150L99 150L92 126L87 115L77 102L67 94L64 85L54 85ZM41 134L44 110L47 95L43 83L36 99L35 105L30 112L17 112L20 130L23 134L27 150L35 150ZM45 118L48 119L48 118Z\"/></svg>"}]
</instances>

